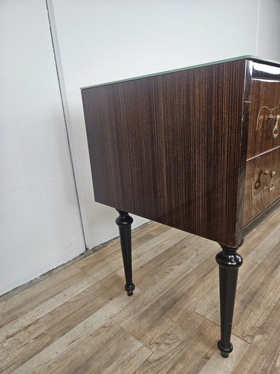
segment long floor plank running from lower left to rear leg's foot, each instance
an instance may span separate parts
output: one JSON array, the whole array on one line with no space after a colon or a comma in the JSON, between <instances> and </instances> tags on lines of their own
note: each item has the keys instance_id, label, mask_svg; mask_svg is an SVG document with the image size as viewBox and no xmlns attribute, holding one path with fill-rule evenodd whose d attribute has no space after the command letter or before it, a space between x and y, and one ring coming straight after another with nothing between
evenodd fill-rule
<instances>
[{"instance_id":1,"label":"long floor plank running from lower left to rear leg's foot","mask_svg":"<svg viewBox=\"0 0 280 374\"><path fill-rule=\"evenodd\" d=\"M122 285L123 280L111 274L4 340L0 343L0 372L12 372L110 301L123 296Z\"/></svg>"}]
</instances>

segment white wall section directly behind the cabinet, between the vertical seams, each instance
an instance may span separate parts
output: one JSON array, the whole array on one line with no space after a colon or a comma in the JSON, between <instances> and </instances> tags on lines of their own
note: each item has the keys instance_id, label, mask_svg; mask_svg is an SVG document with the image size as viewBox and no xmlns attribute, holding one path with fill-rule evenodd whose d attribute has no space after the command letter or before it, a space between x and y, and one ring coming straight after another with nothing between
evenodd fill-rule
<instances>
[{"instance_id":1,"label":"white wall section directly behind the cabinet, between the vertical seams","mask_svg":"<svg viewBox=\"0 0 280 374\"><path fill-rule=\"evenodd\" d=\"M259 6L257 0L47 2L86 244L91 248L117 235L116 213L93 202L79 87L255 55Z\"/></svg>"}]
</instances>

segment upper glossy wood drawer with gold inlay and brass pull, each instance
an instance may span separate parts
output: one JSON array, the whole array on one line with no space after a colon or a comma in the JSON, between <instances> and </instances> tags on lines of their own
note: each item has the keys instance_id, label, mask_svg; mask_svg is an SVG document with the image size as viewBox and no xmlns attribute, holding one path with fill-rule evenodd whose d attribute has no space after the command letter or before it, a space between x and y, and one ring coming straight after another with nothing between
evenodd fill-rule
<instances>
[{"instance_id":1,"label":"upper glossy wood drawer with gold inlay and brass pull","mask_svg":"<svg viewBox=\"0 0 280 374\"><path fill-rule=\"evenodd\" d=\"M280 146L280 81L252 79L247 159Z\"/></svg>"}]
</instances>

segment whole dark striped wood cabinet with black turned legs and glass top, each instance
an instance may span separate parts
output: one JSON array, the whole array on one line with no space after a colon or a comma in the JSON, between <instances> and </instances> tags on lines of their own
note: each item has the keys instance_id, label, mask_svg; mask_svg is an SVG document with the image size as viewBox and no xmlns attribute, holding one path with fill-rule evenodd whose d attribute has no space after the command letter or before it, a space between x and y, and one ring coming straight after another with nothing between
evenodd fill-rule
<instances>
[{"instance_id":1,"label":"whole dark striped wood cabinet with black turned legs and glass top","mask_svg":"<svg viewBox=\"0 0 280 374\"><path fill-rule=\"evenodd\" d=\"M244 56L81 90L95 201L216 241L223 357L244 236L280 205L280 64Z\"/></svg>"}]
</instances>

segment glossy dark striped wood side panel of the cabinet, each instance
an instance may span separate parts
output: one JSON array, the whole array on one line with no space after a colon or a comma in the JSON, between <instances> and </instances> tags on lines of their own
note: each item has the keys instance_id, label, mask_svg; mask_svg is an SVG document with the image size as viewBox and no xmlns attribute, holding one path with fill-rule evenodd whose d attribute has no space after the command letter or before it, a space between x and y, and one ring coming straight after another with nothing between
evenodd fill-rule
<instances>
[{"instance_id":1,"label":"glossy dark striped wood side panel of the cabinet","mask_svg":"<svg viewBox=\"0 0 280 374\"><path fill-rule=\"evenodd\" d=\"M83 89L95 201L237 246L245 63Z\"/></svg>"}]
</instances>

